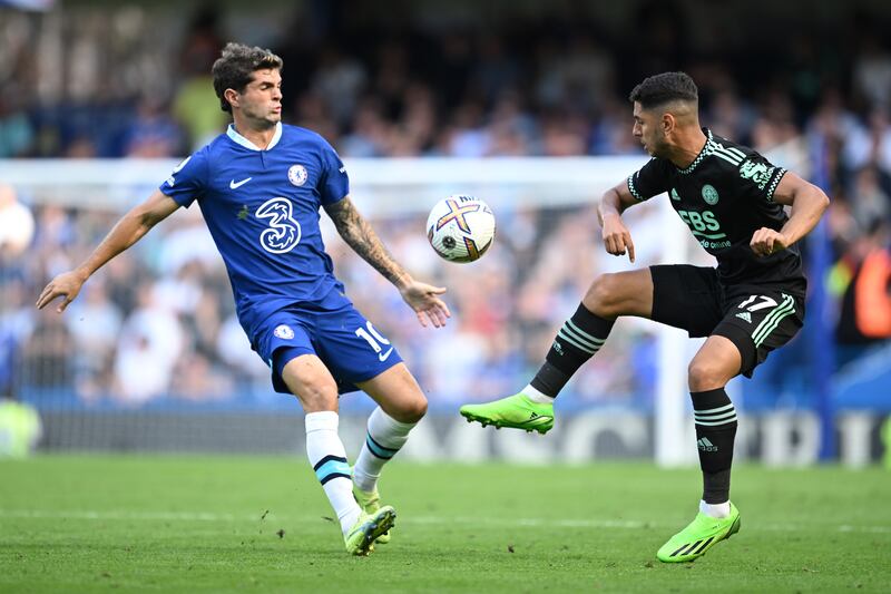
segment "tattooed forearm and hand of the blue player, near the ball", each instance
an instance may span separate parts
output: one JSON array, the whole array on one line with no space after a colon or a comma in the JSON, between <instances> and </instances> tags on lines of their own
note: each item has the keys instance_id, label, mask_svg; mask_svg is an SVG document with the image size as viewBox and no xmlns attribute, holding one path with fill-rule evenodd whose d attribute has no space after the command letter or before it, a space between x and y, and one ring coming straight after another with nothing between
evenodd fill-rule
<instances>
[{"instance_id":1,"label":"tattooed forearm and hand of the blue player, near the ball","mask_svg":"<svg viewBox=\"0 0 891 594\"><path fill-rule=\"evenodd\" d=\"M446 288L412 279L411 274L405 272L405 269L386 251L369 222L359 214L350 196L325 206L325 212L334 222L343 241L399 289L402 299L418 314L421 325L425 327L428 320L435 328L446 325L446 320L451 313L438 296L446 292Z\"/></svg>"}]
</instances>

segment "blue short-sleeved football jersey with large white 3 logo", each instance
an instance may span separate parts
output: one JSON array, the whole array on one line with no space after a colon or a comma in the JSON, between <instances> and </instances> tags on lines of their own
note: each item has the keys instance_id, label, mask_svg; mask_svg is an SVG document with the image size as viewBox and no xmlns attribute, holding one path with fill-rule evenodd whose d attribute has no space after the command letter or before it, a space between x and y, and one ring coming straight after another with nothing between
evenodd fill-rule
<instances>
[{"instance_id":1,"label":"blue short-sleeved football jersey with large white 3 logo","mask_svg":"<svg viewBox=\"0 0 891 594\"><path fill-rule=\"evenodd\" d=\"M350 182L320 135L278 124L261 150L231 125L177 165L160 191L182 206L198 201L248 335L286 306L335 310L350 303L319 226L320 206L346 196Z\"/></svg>"}]
</instances>

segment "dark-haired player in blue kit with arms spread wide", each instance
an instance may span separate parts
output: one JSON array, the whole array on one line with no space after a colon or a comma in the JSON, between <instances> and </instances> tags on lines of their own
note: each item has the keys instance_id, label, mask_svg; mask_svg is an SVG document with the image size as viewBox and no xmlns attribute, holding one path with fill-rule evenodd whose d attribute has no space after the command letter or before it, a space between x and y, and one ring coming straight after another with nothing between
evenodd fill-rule
<instances>
[{"instance_id":1,"label":"dark-haired player in blue kit with arms spread wide","mask_svg":"<svg viewBox=\"0 0 891 594\"><path fill-rule=\"evenodd\" d=\"M306 454L340 520L347 553L368 555L395 519L381 506L381 468L405 444L427 399L395 348L355 310L334 276L319 227L325 210L344 241L400 291L422 325L450 315L443 288L415 281L382 245L350 199L349 178L317 134L282 119L282 59L228 43L213 66L214 89L234 124L183 160L130 210L77 269L40 294L65 311L100 266L193 202L226 264L238 320L272 369L276 391L305 411ZM339 393L361 389L378 402L351 469L337 435Z\"/></svg>"}]
</instances>

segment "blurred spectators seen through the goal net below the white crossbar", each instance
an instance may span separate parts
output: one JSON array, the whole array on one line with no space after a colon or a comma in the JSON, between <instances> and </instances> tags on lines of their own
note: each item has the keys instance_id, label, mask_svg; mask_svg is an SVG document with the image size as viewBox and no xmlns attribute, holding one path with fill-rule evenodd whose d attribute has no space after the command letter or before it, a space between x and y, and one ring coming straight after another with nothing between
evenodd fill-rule
<instances>
[{"instance_id":1,"label":"blurred spectators seen through the goal net below the white crossbar","mask_svg":"<svg viewBox=\"0 0 891 594\"><path fill-rule=\"evenodd\" d=\"M59 315L55 305L35 310L41 283L82 261L118 214L38 208L28 257L0 265L0 390L29 400L75 396L126 406L165 397L284 402L271 392L270 369L251 351L222 260L195 215L180 212L158 226ZM349 296L400 349L434 407L513 389L540 363L554 328L605 257L589 232L589 208L501 212L497 245L472 266L440 260L427 245L420 216L374 224L410 270L449 288L453 319L446 329L418 324L398 291L330 225L325 241ZM646 329L617 331L569 399L648 400L652 345Z\"/></svg>"}]
</instances>

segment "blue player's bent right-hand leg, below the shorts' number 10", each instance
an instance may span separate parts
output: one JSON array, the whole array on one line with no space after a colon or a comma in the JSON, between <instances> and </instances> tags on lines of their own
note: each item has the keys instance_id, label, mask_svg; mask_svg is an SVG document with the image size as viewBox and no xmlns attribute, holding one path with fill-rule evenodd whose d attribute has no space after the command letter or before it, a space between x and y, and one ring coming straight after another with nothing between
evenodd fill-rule
<instances>
[{"instance_id":1,"label":"blue player's bent right-hand leg, below the shorts' number 10","mask_svg":"<svg viewBox=\"0 0 891 594\"><path fill-rule=\"evenodd\" d=\"M381 506L378 479L383 466L409 440L409 432L427 412L427 398L404 363L396 363L356 387L371 396L378 408L369 417L368 434L353 468L353 495L369 514ZM378 538L385 544L390 534Z\"/></svg>"}]
</instances>

